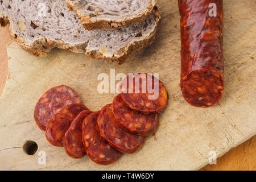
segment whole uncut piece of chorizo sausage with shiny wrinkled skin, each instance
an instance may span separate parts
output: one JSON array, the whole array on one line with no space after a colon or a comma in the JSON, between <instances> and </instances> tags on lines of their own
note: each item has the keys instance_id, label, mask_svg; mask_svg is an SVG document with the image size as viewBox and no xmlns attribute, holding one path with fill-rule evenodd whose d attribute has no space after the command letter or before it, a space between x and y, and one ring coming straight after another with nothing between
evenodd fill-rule
<instances>
[{"instance_id":1,"label":"whole uncut piece of chorizo sausage with shiny wrinkled skin","mask_svg":"<svg viewBox=\"0 0 256 182\"><path fill-rule=\"evenodd\" d=\"M213 106L224 90L222 0L179 0L179 9L181 92L193 106Z\"/></svg>"}]
</instances>

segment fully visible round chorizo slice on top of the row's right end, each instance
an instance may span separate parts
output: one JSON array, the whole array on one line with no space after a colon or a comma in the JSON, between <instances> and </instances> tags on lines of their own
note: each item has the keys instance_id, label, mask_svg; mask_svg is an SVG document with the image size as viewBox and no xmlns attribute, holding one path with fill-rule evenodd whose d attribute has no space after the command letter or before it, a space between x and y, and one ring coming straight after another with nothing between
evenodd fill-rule
<instances>
[{"instance_id":1,"label":"fully visible round chorizo slice on top of the row's right end","mask_svg":"<svg viewBox=\"0 0 256 182\"><path fill-rule=\"evenodd\" d=\"M133 73L119 86L123 101L142 113L156 113L167 105L168 93L158 78L147 73Z\"/></svg>"}]
</instances>

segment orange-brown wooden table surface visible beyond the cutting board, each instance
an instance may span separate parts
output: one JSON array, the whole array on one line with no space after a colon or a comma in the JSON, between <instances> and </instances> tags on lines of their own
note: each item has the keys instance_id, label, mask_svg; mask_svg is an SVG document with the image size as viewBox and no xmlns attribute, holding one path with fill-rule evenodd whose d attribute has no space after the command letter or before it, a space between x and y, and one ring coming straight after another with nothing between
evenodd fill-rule
<instances>
[{"instance_id":1,"label":"orange-brown wooden table surface visible beyond the cutting board","mask_svg":"<svg viewBox=\"0 0 256 182\"><path fill-rule=\"evenodd\" d=\"M248 2L250 1L246 2L248 5ZM251 2L254 2L254 0L251 0ZM248 28L249 27L247 27L247 29ZM2 89L5 85L8 73L6 43L9 42L10 37L7 32L7 28L0 28L0 93L2 92ZM238 40L236 41L238 42ZM250 59L254 59L254 57L250 56ZM236 148L233 148L225 155L218 158L217 165L208 165L203 167L201 170L255 170L255 151L256 136L240 144Z\"/></svg>"}]
</instances>

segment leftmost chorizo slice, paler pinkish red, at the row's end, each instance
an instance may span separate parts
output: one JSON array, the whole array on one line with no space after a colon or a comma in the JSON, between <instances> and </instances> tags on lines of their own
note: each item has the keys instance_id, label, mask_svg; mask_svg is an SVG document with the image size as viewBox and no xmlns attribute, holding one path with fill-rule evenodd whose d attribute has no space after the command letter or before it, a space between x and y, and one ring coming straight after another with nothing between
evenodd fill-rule
<instances>
[{"instance_id":1,"label":"leftmost chorizo slice, paler pinkish red, at the row's end","mask_svg":"<svg viewBox=\"0 0 256 182\"><path fill-rule=\"evenodd\" d=\"M48 119L69 104L81 104L81 99L74 89L65 85L49 89L35 106L34 118L38 127L46 131Z\"/></svg>"}]
</instances>

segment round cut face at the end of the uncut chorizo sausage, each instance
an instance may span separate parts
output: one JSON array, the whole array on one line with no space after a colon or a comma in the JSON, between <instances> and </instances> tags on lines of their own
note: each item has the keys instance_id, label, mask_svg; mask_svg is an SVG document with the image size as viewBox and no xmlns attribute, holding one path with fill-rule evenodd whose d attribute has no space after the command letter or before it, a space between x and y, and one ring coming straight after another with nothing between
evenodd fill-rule
<instances>
[{"instance_id":1,"label":"round cut face at the end of the uncut chorizo sausage","mask_svg":"<svg viewBox=\"0 0 256 182\"><path fill-rule=\"evenodd\" d=\"M221 100L224 77L216 71L199 69L181 78L180 86L183 97L189 104L210 107Z\"/></svg>"}]
</instances>

